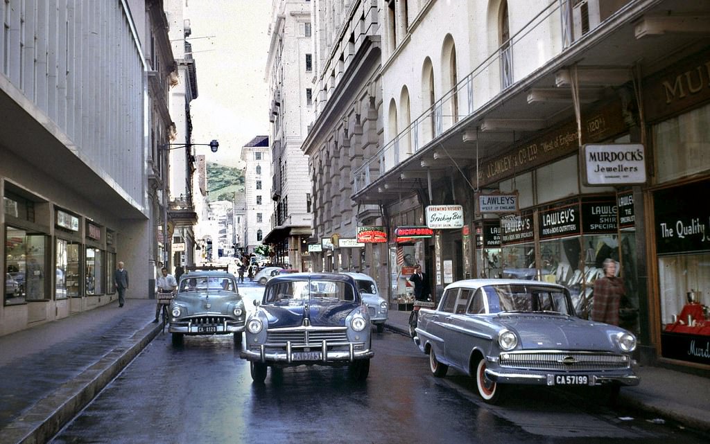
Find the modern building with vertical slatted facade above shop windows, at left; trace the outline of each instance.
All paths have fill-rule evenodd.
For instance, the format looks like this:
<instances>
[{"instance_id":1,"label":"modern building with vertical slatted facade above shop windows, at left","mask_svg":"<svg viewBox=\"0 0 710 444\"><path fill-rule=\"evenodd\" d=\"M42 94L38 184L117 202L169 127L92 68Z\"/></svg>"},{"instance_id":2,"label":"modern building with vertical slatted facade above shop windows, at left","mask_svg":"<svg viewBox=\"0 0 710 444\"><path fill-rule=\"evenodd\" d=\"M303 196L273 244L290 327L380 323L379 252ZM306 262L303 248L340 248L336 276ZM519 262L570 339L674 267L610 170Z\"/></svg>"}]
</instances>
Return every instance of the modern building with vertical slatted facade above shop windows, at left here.
<instances>
[{"instance_id":1,"label":"modern building with vertical slatted facade above shop windows, at left","mask_svg":"<svg viewBox=\"0 0 710 444\"><path fill-rule=\"evenodd\" d=\"M0 334L115 301L119 261L127 296L148 297L173 71L162 6L0 2Z\"/></svg>"}]
</instances>

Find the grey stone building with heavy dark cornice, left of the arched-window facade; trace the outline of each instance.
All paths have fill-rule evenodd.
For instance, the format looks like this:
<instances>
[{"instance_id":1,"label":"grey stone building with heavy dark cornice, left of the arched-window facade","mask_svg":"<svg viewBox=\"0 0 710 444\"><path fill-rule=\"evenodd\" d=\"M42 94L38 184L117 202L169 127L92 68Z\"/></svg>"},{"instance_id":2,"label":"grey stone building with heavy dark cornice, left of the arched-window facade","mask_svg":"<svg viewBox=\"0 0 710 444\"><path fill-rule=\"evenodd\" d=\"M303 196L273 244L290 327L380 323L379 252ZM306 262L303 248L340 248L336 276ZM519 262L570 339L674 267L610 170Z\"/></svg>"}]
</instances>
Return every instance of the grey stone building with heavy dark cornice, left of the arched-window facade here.
<instances>
[{"instance_id":1,"label":"grey stone building with heavy dark cornice, left of the arched-window facade","mask_svg":"<svg viewBox=\"0 0 710 444\"><path fill-rule=\"evenodd\" d=\"M357 226L372 225L381 211L377 202L363 206L352 199L354 170L383 143L383 10L378 1L310 3L315 116L302 150L313 190L313 269L367 272L386 289L388 249L355 243Z\"/></svg>"}]
</instances>

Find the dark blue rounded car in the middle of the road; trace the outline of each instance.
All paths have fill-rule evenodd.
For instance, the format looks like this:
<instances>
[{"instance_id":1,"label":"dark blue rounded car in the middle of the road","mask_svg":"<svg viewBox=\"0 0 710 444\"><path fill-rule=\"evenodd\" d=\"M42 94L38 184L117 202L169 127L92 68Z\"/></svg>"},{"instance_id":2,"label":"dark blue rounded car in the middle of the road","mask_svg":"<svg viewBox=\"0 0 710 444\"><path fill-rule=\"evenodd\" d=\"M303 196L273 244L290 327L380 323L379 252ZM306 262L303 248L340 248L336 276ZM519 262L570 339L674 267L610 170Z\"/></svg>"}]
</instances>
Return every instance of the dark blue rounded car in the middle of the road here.
<instances>
[{"instance_id":1,"label":"dark blue rounded car in the middle of the road","mask_svg":"<svg viewBox=\"0 0 710 444\"><path fill-rule=\"evenodd\" d=\"M254 382L268 367L347 365L353 379L370 372L374 353L370 316L355 281L344 274L294 273L266 283L263 299L246 318L246 346Z\"/></svg>"}]
</instances>

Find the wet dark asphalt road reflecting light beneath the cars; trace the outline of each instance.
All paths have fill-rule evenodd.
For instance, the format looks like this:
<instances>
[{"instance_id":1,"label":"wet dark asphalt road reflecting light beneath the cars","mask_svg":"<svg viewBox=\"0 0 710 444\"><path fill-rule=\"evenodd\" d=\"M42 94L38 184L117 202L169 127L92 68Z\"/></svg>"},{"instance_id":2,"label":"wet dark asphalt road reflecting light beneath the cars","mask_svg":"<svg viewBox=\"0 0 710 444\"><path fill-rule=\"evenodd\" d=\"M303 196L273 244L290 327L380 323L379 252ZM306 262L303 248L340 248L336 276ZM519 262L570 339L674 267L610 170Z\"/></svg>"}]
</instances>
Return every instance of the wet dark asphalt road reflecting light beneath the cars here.
<instances>
[{"instance_id":1,"label":"wet dark asphalt road reflecting light beneath the cars","mask_svg":"<svg viewBox=\"0 0 710 444\"><path fill-rule=\"evenodd\" d=\"M263 287L244 285L246 300ZM158 335L51 441L60 443L706 443L672 424L614 411L586 392L516 390L488 406L463 374L432 377L410 338L374 333L370 376L296 367L266 384L230 336ZM621 417L630 416L631 420Z\"/></svg>"}]
</instances>

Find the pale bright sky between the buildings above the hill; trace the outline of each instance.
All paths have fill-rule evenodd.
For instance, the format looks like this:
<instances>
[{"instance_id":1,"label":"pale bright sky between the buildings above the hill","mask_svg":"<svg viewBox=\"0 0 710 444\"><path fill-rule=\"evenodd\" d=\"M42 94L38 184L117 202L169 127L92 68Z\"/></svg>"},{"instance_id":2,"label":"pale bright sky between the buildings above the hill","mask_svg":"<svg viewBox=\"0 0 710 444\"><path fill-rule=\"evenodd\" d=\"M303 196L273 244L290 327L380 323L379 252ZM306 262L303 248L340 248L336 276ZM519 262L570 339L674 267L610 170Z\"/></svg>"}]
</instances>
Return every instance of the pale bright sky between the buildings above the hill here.
<instances>
[{"instance_id":1,"label":"pale bright sky between the buildings above the hill","mask_svg":"<svg viewBox=\"0 0 710 444\"><path fill-rule=\"evenodd\" d=\"M241 167L241 147L268 135L270 16L271 0L187 0L198 94L191 102L192 139L219 141L216 154L195 147L207 162Z\"/></svg>"}]
</instances>

